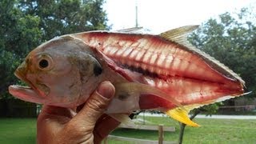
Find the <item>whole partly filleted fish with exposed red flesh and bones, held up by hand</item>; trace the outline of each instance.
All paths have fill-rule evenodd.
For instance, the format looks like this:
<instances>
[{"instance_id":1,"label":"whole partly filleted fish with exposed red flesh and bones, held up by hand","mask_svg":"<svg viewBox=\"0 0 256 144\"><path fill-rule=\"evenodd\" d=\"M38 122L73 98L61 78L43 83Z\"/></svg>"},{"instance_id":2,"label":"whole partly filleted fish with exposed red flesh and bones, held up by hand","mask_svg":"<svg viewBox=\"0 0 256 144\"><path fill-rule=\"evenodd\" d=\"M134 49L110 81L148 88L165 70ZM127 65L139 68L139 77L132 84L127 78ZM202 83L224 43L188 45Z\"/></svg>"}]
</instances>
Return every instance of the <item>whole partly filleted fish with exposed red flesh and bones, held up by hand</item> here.
<instances>
[{"instance_id":1,"label":"whole partly filleted fish with exposed red flesh and bones, held up by hand","mask_svg":"<svg viewBox=\"0 0 256 144\"><path fill-rule=\"evenodd\" d=\"M198 26L162 34L94 30L42 43L15 71L28 86L9 86L27 102L76 107L104 81L116 92L106 110L119 121L134 110L159 110L188 126L190 110L244 93L245 82L187 35Z\"/></svg>"}]
</instances>

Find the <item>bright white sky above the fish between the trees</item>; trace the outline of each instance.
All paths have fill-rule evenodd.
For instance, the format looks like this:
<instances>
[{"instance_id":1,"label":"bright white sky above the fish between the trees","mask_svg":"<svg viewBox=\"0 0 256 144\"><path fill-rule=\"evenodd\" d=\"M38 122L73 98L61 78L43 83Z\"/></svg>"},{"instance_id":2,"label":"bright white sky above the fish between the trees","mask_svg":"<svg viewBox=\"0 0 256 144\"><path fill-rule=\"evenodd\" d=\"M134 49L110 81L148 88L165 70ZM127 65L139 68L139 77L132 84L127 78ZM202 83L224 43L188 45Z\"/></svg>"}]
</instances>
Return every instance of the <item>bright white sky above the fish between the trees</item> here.
<instances>
[{"instance_id":1,"label":"bright white sky above the fish between the trees","mask_svg":"<svg viewBox=\"0 0 256 144\"><path fill-rule=\"evenodd\" d=\"M160 34L186 25L201 25L225 12L256 6L256 0L106 0L103 9L112 30L135 26L138 6L138 26Z\"/></svg>"}]
</instances>

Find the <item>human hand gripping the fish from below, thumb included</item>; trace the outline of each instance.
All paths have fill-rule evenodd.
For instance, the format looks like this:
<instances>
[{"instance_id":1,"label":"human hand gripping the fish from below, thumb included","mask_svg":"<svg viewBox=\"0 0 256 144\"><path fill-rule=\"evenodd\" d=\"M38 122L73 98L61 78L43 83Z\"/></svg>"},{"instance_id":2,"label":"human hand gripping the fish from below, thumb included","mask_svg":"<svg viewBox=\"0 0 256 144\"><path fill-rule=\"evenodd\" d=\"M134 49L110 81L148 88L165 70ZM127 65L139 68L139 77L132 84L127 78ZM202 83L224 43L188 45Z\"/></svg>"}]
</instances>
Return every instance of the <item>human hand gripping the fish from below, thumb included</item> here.
<instances>
[{"instance_id":1,"label":"human hand gripping the fish from below, thumb included","mask_svg":"<svg viewBox=\"0 0 256 144\"><path fill-rule=\"evenodd\" d=\"M102 82L78 113L62 107L43 106L38 116L38 144L102 142L120 124L103 114L114 91L110 82Z\"/></svg>"}]
</instances>

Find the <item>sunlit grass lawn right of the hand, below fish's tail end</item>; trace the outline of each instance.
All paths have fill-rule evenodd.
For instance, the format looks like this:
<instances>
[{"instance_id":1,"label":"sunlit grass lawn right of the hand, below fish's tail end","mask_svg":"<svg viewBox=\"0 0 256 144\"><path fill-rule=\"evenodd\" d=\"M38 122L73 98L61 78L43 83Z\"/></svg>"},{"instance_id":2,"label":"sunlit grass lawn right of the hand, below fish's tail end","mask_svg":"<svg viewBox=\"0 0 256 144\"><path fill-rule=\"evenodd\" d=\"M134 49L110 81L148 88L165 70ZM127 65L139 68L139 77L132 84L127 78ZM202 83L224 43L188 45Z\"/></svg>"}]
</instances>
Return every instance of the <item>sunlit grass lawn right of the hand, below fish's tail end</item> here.
<instances>
[{"instance_id":1,"label":"sunlit grass lawn right of the hand, below fish's tail end","mask_svg":"<svg viewBox=\"0 0 256 144\"><path fill-rule=\"evenodd\" d=\"M146 117L155 124L176 127L175 132L166 132L165 141L178 142L179 125L170 118ZM183 143L256 143L256 120L205 119L195 118L201 127L186 126ZM131 138L158 140L158 131L124 130L113 132L114 135Z\"/></svg>"}]
</instances>

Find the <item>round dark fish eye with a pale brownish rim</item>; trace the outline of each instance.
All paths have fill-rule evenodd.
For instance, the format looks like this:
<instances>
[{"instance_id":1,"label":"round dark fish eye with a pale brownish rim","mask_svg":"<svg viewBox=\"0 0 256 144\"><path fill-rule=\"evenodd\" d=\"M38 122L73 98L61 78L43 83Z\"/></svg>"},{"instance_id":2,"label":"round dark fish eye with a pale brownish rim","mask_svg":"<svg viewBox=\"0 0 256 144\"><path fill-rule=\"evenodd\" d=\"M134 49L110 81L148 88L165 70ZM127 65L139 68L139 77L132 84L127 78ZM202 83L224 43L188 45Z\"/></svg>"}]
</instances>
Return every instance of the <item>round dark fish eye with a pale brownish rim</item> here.
<instances>
[{"instance_id":1,"label":"round dark fish eye with a pale brownish rim","mask_svg":"<svg viewBox=\"0 0 256 144\"><path fill-rule=\"evenodd\" d=\"M49 55L42 54L38 58L38 69L50 70L53 67L53 59Z\"/></svg>"}]
</instances>

